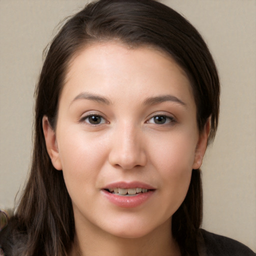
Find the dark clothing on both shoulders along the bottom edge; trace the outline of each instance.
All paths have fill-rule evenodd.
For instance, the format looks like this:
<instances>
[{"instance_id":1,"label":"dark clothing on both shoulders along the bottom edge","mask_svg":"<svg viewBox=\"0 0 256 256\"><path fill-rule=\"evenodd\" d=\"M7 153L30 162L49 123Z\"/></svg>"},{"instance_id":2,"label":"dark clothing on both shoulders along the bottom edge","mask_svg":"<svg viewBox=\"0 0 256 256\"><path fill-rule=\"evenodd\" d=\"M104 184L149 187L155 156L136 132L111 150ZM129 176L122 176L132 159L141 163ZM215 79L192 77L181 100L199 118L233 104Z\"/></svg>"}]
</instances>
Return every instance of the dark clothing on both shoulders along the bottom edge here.
<instances>
[{"instance_id":1,"label":"dark clothing on both shoulders along the bottom edge","mask_svg":"<svg viewBox=\"0 0 256 256\"><path fill-rule=\"evenodd\" d=\"M0 248L5 256L20 256L26 248L27 234L25 228L18 227L15 218L0 231ZM244 244L231 238L200 229L198 237L199 256L255 256L256 254ZM161 256L161 255L159 255ZM194 255L190 255L194 256Z\"/></svg>"}]
</instances>

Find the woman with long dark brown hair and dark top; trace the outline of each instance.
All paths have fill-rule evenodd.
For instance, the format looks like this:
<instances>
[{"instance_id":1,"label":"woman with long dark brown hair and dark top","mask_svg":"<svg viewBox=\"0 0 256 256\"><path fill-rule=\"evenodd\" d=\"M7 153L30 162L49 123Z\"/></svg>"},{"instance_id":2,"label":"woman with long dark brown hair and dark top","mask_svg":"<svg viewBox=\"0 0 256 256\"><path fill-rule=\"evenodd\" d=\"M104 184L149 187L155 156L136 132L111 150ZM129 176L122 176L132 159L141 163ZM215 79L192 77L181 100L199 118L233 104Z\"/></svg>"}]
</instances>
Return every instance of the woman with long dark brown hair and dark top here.
<instances>
[{"instance_id":1,"label":"woman with long dark brown hair and dark top","mask_svg":"<svg viewBox=\"0 0 256 256\"><path fill-rule=\"evenodd\" d=\"M100 0L53 39L30 177L5 255L252 255L199 229L219 80L195 28L153 0ZM224 254L223 254L224 255Z\"/></svg>"}]
</instances>

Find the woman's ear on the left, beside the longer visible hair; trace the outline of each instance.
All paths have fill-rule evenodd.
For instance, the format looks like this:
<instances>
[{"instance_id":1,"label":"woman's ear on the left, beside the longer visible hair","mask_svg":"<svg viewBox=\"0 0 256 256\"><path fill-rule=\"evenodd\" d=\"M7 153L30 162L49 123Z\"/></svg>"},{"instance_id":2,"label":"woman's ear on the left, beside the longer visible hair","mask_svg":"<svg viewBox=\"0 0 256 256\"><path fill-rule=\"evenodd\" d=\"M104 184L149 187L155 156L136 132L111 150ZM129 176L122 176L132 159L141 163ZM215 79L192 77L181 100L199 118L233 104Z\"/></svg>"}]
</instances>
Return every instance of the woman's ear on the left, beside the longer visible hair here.
<instances>
[{"instance_id":1,"label":"woman's ear on the left, beside the longer visible hair","mask_svg":"<svg viewBox=\"0 0 256 256\"><path fill-rule=\"evenodd\" d=\"M55 169L61 170L62 164L59 158L56 135L54 130L51 128L49 124L48 117L45 115L42 117L42 129L43 129L47 152L51 159L52 165L54 166Z\"/></svg>"}]
</instances>

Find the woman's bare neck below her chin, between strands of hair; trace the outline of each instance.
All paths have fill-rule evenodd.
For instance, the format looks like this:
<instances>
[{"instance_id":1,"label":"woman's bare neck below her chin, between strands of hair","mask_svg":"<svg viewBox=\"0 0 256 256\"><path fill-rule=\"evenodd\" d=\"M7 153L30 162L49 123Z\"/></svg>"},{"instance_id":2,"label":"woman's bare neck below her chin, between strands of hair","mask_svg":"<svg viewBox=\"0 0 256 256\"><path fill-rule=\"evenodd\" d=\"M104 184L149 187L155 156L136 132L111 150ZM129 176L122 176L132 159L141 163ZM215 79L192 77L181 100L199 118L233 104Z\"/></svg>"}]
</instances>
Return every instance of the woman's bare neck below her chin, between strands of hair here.
<instances>
[{"instance_id":1,"label":"woman's bare neck below her chin, between strands of hair","mask_svg":"<svg viewBox=\"0 0 256 256\"><path fill-rule=\"evenodd\" d=\"M75 239L70 256L180 256L180 250L171 234L169 219L150 233L138 238L123 238L101 229L83 229L75 226ZM79 227L79 228L78 228Z\"/></svg>"}]
</instances>

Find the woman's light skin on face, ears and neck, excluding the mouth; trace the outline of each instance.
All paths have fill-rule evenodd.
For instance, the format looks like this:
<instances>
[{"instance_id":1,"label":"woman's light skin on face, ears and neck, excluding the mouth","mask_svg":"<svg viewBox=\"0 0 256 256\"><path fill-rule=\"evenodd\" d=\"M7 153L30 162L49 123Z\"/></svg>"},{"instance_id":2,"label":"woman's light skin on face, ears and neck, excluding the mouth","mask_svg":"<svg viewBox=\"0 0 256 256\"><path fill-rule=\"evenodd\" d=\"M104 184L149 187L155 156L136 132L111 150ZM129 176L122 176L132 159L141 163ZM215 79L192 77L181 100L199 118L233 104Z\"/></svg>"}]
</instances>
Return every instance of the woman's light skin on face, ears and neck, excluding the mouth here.
<instances>
[{"instance_id":1,"label":"woman's light skin on face, ears and neck, excluding the mouth","mask_svg":"<svg viewBox=\"0 0 256 256\"><path fill-rule=\"evenodd\" d=\"M91 124L89 114L99 123ZM207 123L199 134L189 80L163 52L116 42L79 52L67 71L56 129L44 116L43 131L72 200L81 254L180 255L171 216L202 163L208 130ZM155 190L141 205L122 208L101 193L117 181Z\"/></svg>"}]
</instances>

